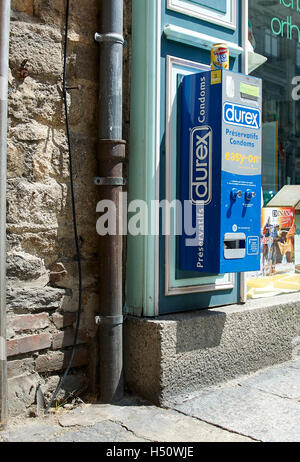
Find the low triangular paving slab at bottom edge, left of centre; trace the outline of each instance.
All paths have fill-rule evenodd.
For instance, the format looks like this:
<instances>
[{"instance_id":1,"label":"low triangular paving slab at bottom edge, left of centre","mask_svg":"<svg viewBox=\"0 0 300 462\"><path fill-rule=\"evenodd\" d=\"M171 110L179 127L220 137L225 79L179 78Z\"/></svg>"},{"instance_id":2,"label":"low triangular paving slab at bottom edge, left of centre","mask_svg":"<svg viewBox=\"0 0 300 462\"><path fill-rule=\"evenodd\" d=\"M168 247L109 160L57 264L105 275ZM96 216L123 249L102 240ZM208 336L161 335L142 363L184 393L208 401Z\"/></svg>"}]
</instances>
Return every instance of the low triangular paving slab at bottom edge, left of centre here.
<instances>
[{"instance_id":1,"label":"low triangular paving slab at bottom edge, left of centre","mask_svg":"<svg viewBox=\"0 0 300 462\"><path fill-rule=\"evenodd\" d=\"M77 431L69 431L63 435L52 438L51 442L101 442L101 443L123 443L123 442L145 442L121 425L115 422L101 422L93 427L81 428Z\"/></svg>"}]
</instances>

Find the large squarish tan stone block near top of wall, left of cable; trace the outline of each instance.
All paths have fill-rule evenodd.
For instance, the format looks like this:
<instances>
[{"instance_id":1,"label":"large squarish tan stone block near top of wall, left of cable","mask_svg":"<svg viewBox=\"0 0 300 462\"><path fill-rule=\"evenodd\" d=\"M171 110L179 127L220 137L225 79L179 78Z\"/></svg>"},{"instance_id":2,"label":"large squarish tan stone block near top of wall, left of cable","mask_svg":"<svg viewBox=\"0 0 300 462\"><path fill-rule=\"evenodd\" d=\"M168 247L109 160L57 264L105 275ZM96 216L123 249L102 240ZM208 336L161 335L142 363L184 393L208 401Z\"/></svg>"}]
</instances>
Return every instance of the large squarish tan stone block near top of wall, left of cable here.
<instances>
[{"instance_id":1,"label":"large squarish tan stone block near top of wall, left of cable","mask_svg":"<svg viewBox=\"0 0 300 462\"><path fill-rule=\"evenodd\" d=\"M18 73L21 63L31 77L59 80L62 74L62 37L59 29L36 23L11 23L10 67Z\"/></svg>"}]
</instances>

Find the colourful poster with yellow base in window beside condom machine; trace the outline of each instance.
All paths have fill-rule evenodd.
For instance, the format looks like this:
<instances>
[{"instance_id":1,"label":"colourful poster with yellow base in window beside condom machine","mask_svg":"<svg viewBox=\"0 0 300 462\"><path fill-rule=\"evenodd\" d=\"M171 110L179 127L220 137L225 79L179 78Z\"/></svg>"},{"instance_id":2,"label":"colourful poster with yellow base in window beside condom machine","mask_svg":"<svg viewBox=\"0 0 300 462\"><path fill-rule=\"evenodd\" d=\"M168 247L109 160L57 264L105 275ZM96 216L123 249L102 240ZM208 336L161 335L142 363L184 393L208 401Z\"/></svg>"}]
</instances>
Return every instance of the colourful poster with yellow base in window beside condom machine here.
<instances>
[{"instance_id":1,"label":"colourful poster with yellow base in window beside condom machine","mask_svg":"<svg viewBox=\"0 0 300 462\"><path fill-rule=\"evenodd\" d=\"M300 290L295 268L295 209L263 208L260 271L247 273L248 298Z\"/></svg>"}]
</instances>

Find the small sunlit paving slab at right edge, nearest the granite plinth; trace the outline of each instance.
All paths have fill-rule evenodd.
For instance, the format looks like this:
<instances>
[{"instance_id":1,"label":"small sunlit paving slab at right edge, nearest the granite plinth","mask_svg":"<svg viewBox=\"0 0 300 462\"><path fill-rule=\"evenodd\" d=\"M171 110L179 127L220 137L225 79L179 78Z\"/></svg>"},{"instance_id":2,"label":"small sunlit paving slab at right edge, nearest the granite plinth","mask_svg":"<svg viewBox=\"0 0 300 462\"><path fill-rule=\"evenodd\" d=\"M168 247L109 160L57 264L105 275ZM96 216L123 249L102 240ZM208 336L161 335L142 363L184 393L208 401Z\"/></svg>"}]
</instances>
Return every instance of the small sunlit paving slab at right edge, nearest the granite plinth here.
<instances>
[{"instance_id":1,"label":"small sunlit paving slab at right edge, nearest the granite plinth","mask_svg":"<svg viewBox=\"0 0 300 462\"><path fill-rule=\"evenodd\" d=\"M241 385L300 400L300 361L298 366L288 363L286 366L267 369L241 382Z\"/></svg>"}]
</instances>

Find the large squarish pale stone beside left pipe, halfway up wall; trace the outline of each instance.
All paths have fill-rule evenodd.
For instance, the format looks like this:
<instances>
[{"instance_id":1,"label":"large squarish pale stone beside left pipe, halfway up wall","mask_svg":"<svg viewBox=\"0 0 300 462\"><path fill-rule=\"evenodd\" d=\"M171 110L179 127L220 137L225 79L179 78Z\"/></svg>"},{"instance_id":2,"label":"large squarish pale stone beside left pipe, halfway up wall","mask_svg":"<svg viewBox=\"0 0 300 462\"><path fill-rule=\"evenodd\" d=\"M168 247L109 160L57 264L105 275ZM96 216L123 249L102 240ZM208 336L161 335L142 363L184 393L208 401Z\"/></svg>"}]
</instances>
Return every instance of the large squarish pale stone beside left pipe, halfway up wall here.
<instances>
[{"instance_id":1,"label":"large squarish pale stone beside left pipe, halfway up wall","mask_svg":"<svg viewBox=\"0 0 300 462\"><path fill-rule=\"evenodd\" d=\"M65 203L64 191L54 180L48 184L8 181L8 228L13 232L57 229L57 214Z\"/></svg>"}]
</instances>

